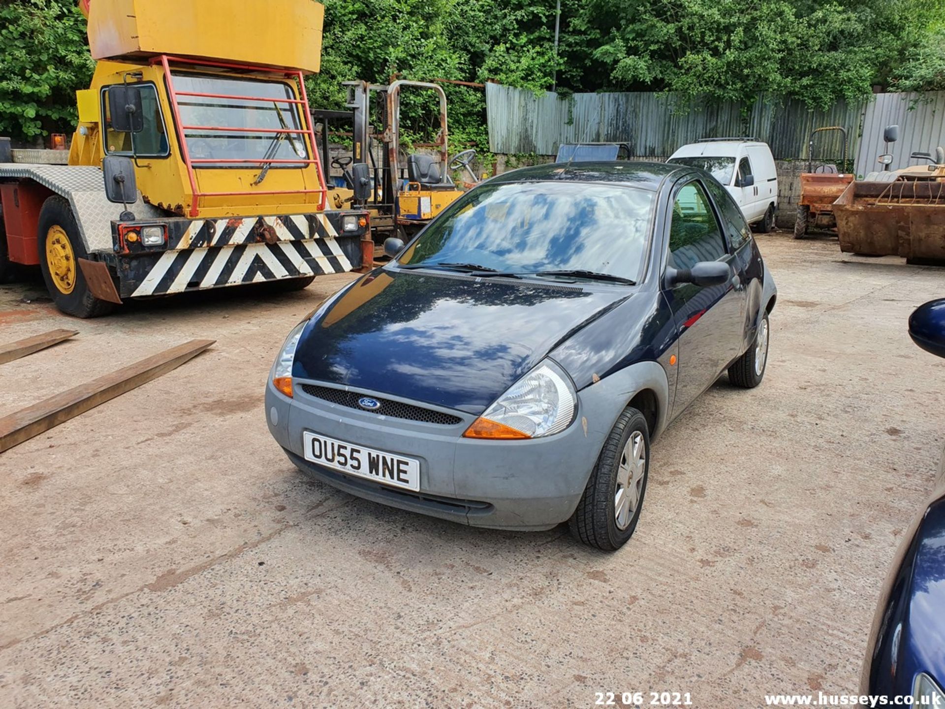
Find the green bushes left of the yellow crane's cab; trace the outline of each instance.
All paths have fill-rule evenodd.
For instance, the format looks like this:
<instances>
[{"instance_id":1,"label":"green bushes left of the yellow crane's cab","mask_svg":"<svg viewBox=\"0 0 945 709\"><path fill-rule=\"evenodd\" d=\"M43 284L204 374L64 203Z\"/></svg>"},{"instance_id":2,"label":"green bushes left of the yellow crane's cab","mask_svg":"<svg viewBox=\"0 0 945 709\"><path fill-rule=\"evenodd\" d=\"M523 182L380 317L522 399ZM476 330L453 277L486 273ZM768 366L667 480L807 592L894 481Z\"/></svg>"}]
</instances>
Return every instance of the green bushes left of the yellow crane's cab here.
<instances>
[{"instance_id":1,"label":"green bushes left of the yellow crane's cab","mask_svg":"<svg viewBox=\"0 0 945 709\"><path fill-rule=\"evenodd\" d=\"M94 70L85 18L69 0L0 4L0 135L19 140L71 130L76 90Z\"/></svg>"}]
</instances>

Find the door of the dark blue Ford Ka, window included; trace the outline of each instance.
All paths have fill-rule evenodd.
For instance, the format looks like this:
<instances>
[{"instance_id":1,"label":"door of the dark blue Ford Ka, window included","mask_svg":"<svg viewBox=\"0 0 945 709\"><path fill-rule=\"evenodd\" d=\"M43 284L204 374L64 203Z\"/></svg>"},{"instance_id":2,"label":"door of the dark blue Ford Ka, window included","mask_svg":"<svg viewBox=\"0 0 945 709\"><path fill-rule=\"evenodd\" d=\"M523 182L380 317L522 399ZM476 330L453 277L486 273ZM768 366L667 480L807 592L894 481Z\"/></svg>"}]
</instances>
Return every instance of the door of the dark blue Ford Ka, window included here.
<instances>
[{"instance_id":1,"label":"door of the dark blue Ford Ka, window included","mask_svg":"<svg viewBox=\"0 0 945 709\"><path fill-rule=\"evenodd\" d=\"M731 278L722 285L669 286L663 295L673 311L679 337L679 361L674 415L708 389L738 355L742 338L741 293L733 255L726 247L706 188L696 179L674 189L666 268L692 268L700 261L725 261Z\"/></svg>"}]
</instances>

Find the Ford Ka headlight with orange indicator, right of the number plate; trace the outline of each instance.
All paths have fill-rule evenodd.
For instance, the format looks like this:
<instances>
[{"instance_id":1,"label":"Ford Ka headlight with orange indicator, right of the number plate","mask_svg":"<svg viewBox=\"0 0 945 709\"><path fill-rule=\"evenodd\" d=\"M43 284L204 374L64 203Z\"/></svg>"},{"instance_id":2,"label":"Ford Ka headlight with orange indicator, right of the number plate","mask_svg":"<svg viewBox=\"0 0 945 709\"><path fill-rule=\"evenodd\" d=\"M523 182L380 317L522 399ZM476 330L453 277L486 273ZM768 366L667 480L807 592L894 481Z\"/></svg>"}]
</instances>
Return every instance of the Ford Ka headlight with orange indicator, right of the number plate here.
<instances>
[{"instance_id":1,"label":"Ford Ka headlight with orange indicator, right of the number plate","mask_svg":"<svg viewBox=\"0 0 945 709\"><path fill-rule=\"evenodd\" d=\"M463 434L468 439L537 439L575 419L577 395L568 375L545 360L513 384Z\"/></svg>"}]
</instances>

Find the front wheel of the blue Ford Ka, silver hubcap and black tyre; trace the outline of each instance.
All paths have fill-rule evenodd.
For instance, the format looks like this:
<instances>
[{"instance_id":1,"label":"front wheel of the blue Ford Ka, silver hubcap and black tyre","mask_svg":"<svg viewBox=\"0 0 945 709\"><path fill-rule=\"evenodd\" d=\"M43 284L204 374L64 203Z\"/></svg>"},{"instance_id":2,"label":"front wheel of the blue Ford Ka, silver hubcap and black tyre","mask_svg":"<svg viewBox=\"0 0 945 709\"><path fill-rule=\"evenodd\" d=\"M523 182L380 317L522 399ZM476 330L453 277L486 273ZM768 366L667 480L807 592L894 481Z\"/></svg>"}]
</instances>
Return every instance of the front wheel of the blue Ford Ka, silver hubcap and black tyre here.
<instances>
[{"instance_id":1,"label":"front wheel of the blue Ford Ka, silver hubcap and black tyre","mask_svg":"<svg viewBox=\"0 0 945 709\"><path fill-rule=\"evenodd\" d=\"M610 429L568 521L574 537L604 551L627 544L640 520L648 476L649 427L639 410L627 406Z\"/></svg>"}]
</instances>

